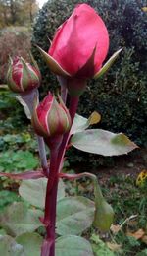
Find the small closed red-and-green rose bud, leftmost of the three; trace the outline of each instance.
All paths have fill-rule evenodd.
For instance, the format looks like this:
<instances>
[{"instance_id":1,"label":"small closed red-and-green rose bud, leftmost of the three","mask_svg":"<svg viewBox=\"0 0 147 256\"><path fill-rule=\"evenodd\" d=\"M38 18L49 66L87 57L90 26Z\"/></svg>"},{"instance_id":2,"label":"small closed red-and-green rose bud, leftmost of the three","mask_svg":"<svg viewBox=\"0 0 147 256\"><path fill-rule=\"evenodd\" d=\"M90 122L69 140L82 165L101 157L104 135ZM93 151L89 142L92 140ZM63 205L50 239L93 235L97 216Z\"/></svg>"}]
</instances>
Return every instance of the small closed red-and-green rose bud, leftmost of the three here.
<instances>
[{"instance_id":1,"label":"small closed red-and-green rose bud, leftmost of the three","mask_svg":"<svg viewBox=\"0 0 147 256\"><path fill-rule=\"evenodd\" d=\"M15 93L28 93L40 85L40 71L34 66L25 63L22 57L10 59L10 66L7 73L7 83L9 88Z\"/></svg>"}]
</instances>

